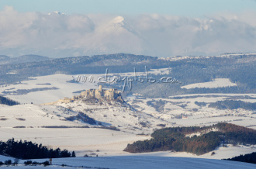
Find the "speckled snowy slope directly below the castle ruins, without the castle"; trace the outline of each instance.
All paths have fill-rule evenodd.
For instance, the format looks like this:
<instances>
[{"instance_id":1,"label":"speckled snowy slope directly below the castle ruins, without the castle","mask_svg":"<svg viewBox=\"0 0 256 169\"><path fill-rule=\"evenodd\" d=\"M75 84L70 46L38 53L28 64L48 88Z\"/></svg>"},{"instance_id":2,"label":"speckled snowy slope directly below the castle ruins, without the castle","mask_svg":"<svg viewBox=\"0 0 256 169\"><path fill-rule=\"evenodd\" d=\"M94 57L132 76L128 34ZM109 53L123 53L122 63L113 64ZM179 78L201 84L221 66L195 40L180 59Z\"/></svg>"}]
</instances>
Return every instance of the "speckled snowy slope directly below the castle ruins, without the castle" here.
<instances>
[{"instance_id":1,"label":"speckled snowy slope directly below the castle ruins, without the castle","mask_svg":"<svg viewBox=\"0 0 256 169\"><path fill-rule=\"evenodd\" d=\"M119 102L88 104L82 100L76 100L71 103L59 102L56 105L70 108L75 112L83 112L93 119L102 122L104 126L116 126L126 133L150 134L153 132L153 129L159 128L157 124L166 123L166 126L171 126L171 122L157 119L144 112L128 109L126 105Z\"/></svg>"}]
</instances>

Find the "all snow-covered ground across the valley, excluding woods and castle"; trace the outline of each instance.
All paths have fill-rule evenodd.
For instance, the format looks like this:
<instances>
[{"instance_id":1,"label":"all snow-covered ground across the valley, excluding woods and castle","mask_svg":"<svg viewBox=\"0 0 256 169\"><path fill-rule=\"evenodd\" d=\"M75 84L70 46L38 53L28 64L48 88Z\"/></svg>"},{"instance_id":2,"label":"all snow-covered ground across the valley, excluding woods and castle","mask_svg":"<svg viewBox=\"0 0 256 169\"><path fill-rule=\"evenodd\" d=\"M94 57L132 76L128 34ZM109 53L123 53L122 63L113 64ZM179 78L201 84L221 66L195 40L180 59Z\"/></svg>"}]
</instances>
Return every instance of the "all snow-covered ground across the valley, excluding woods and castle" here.
<instances>
[{"instance_id":1,"label":"all snow-covered ground across the valley, excluding woods and castle","mask_svg":"<svg viewBox=\"0 0 256 169\"><path fill-rule=\"evenodd\" d=\"M163 71L151 70L150 73L159 74ZM166 73L168 73L168 69L163 74ZM129 77L132 74L133 72L128 72L122 75ZM85 76L90 75L92 74L85 74ZM104 75L93 74L93 77L97 79ZM110 77L114 75L109 74ZM88 104L81 100L70 103L57 102L65 97L78 96L79 92L76 91L99 88L98 83L70 83L69 81L73 78L72 75L54 74L31 77L29 81L21 81L16 85L2 85L0 92L10 91L9 95L5 95L5 97L12 98L12 100L20 102L21 105L1 105L1 140L7 141L10 138L29 140L34 143L42 143L47 147L60 147L76 152L75 159L54 159L51 167L60 167L61 164L66 164L70 168L81 166L108 168L140 166L140 168L148 168L159 166L159 160L161 160L162 168L170 166L186 168L190 163L192 163L191 167L196 168L198 168L198 164L201 168L207 168L209 167L208 163L212 164L210 168L218 165L225 168L254 167L253 164L221 160L254 152L256 148L253 145L234 146L229 144L227 147L219 147L214 150L214 155L206 153L200 156L171 151L133 154L123 150L128 143L150 139L150 133L163 126L209 126L216 122L231 122L256 129L256 114L253 110L219 110L206 106L211 102L235 97L244 97L241 100L255 103L256 94L211 93L175 95L169 98L140 98L140 95L133 94L127 95L125 98L128 107L116 102L102 102L101 104L98 102ZM226 78L218 78L215 81L186 85L182 88L219 88L231 85L236 84ZM33 91L33 88L45 88L46 86L56 89ZM24 95L13 92L19 90L29 90L29 92ZM156 106L157 102L161 102L160 107ZM205 102L206 105L196 105L195 102ZM76 116L78 112L86 113L96 122L101 122L103 126L115 126L117 129L102 129L99 125L88 124L78 119L67 120ZM85 158L85 154L92 157ZM2 161L9 159L9 157L3 156L1 158ZM22 161L19 161L17 167L24 167ZM131 165L130 161L133 161ZM29 168L29 166L26 167Z\"/></svg>"}]
</instances>

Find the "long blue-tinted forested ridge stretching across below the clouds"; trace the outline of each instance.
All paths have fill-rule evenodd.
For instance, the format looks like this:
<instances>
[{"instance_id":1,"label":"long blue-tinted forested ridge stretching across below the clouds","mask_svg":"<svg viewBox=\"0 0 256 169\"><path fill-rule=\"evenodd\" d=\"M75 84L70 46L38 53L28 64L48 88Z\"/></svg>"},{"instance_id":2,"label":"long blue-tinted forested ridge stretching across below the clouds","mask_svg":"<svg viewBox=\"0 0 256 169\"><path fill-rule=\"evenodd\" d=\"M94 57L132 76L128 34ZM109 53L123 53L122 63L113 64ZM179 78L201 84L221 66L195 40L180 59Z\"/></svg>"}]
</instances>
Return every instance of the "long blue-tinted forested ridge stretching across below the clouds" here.
<instances>
[{"instance_id":1,"label":"long blue-tinted forested ridge stretching across below the clouds","mask_svg":"<svg viewBox=\"0 0 256 169\"><path fill-rule=\"evenodd\" d=\"M22 57L29 60L32 56ZM8 57L2 56L2 59ZM36 58L36 57L35 57ZM40 57L42 59L42 57ZM44 58L46 59L46 58ZM35 59L36 60L36 59ZM37 59L40 60L40 59ZM33 61L33 59L30 59ZM195 93L254 93L255 56L232 55L230 57L184 57L182 60L164 60L158 57L134 55L130 53L114 53L95 55L92 57L65 57L59 59L26 62L21 64L0 65L0 85L13 84L27 80L29 77L50 74L119 74L126 72L150 72L151 69L168 68L163 74L150 74L154 79L171 77L178 79L182 85L213 81L215 78L228 78L236 86L223 88L180 88L180 84L172 83L137 83L133 92L147 98L168 97L170 95ZM112 86L120 89L119 85ZM106 87L106 86L104 86ZM149 92L150 91L150 92Z\"/></svg>"}]
</instances>

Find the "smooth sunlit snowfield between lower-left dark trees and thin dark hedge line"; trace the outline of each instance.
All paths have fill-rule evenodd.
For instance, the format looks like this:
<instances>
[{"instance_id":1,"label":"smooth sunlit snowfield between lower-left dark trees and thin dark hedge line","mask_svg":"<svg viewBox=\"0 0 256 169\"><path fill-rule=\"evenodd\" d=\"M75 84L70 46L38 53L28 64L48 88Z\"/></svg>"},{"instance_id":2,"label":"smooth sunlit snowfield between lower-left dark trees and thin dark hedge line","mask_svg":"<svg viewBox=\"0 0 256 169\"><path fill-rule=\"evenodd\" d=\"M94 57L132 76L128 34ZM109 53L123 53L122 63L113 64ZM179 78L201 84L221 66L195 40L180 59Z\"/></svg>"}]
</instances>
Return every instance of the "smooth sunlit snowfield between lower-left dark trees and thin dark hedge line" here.
<instances>
[{"instance_id":1,"label":"smooth sunlit snowfield between lower-left dark trees and thin dark hedge line","mask_svg":"<svg viewBox=\"0 0 256 169\"><path fill-rule=\"evenodd\" d=\"M99 156L126 153L123 150L128 143L137 140L146 140L149 136L136 136L134 134L112 131L109 129L44 129L1 128L1 140L6 141L12 137L15 140L28 140L33 143L42 143L44 146L62 150L74 150L78 156L97 153Z\"/></svg>"}]
</instances>

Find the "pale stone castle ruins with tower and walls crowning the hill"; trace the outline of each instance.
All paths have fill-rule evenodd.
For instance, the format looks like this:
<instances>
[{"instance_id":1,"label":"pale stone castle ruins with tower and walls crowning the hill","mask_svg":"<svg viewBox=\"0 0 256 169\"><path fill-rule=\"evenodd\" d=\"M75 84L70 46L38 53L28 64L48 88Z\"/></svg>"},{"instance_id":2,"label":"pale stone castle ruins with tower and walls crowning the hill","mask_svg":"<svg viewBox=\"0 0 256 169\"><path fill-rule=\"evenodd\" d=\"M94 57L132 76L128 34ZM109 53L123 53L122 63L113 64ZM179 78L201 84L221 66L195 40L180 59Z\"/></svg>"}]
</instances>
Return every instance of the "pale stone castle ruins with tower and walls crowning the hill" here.
<instances>
[{"instance_id":1,"label":"pale stone castle ruins with tower and walls crowning the hill","mask_svg":"<svg viewBox=\"0 0 256 169\"><path fill-rule=\"evenodd\" d=\"M74 102L74 100L77 99L83 99L83 98L96 98L99 100L99 102L102 101L118 101L118 102L124 102L122 95L121 95L121 91L117 91L117 89L102 89L102 85L99 85L99 89L89 89L86 91L81 91L81 95L78 96L73 96L72 98L64 98L64 99L60 99L57 102L64 102L64 103L69 103L69 102ZM54 103L49 103L49 104L55 104L57 102Z\"/></svg>"}]
</instances>

